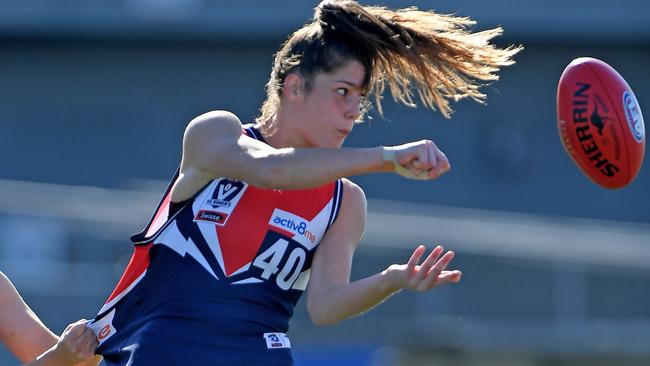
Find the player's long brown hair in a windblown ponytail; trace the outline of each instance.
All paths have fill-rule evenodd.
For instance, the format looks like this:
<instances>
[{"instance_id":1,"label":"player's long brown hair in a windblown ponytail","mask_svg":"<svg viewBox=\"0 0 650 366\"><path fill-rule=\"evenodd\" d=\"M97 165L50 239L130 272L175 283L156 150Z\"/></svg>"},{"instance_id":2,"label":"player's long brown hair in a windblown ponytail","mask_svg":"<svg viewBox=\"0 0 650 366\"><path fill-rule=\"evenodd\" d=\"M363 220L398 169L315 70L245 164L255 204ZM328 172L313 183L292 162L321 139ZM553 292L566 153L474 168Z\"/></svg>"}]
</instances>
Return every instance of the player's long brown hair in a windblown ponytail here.
<instances>
[{"instance_id":1,"label":"player's long brown hair in a windblown ponytail","mask_svg":"<svg viewBox=\"0 0 650 366\"><path fill-rule=\"evenodd\" d=\"M299 72L308 90L317 73L334 71L350 59L364 65L364 89L380 115L388 86L396 101L415 106L415 90L424 105L450 117L450 100L483 102L486 95L479 88L497 80L499 68L512 65L512 57L522 49L496 47L490 40L503 30L472 33L474 24L466 17L415 7L390 10L353 0L325 0L313 20L276 53L257 121L268 124L277 113L287 75Z\"/></svg>"}]
</instances>

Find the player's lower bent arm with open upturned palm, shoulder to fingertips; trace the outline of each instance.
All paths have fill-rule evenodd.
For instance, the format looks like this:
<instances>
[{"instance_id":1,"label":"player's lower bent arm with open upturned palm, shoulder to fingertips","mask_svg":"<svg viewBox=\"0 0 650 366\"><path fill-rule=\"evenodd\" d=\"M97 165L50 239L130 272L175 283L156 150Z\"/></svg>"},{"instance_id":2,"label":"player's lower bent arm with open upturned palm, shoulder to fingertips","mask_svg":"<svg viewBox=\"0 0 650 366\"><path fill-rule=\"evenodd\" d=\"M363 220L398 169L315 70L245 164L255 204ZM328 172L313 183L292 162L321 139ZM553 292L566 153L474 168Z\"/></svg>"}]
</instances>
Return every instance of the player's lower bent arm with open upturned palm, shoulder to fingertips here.
<instances>
[{"instance_id":1,"label":"player's lower bent arm with open upturned palm, shoulder to fingertips","mask_svg":"<svg viewBox=\"0 0 650 366\"><path fill-rule=\"evenodd\" d=\"M315 324L333 324L361 314L401 289L428 291L460 281L461 272L447 271L454 253L434 248L421 263L426 248L417 247L406 264L394 264L373 276L350 282L352 257L366 219L361 188L345 181L339 217L314 255L307 286L307 309Z\"/></svg>"}]
</instances>

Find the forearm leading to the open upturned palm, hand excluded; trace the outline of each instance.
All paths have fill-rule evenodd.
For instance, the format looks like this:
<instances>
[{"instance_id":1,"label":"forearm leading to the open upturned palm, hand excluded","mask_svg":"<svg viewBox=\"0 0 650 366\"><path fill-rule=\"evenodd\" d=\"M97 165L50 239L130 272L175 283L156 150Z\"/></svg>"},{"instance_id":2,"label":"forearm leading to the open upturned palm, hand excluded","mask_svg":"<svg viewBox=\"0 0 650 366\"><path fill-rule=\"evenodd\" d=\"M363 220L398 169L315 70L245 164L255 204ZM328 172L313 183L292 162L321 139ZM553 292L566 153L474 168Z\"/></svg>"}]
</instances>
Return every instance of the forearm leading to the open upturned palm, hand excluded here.
<instances>
[{"instance_id":1,"label":"forearm leading to the open upturned palm, hand excluded","mask_svg":"<svg viewBox=\"0 0 650 366\"><path fill-rule=\"evenodd\" d=\"M315 324L327 325L362 314L399 291L388 271L345 285L332 287L308 299Z\"/></svg>"}]
</instances>

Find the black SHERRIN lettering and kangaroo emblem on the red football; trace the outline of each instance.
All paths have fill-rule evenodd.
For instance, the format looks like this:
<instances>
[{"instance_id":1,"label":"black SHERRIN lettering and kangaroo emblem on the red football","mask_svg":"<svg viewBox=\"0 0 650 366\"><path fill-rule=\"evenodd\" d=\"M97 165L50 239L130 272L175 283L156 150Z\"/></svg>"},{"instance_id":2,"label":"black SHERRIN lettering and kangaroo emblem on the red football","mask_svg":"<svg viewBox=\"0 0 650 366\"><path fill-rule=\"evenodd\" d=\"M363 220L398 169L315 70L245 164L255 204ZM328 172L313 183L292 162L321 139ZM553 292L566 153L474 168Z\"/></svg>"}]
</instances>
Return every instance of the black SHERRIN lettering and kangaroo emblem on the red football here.
<instances>
[{"instance_id":1,"label":"black SHERRIN lettering and kangaroo emblem on the red football","mask_svg":"<svg viewBox=\"0 0 650 366\"><path fill-rule=\"evenodd\" d=\"M580 148L589 161L603 175L613 177L620 168L605 157L594 139L592 125L596 127L597 133L602 134L606 117L600 115L596 101L593 112L589 113L590 89L591 84L576 83L576 91L573 93L573 126Z\"/></svg>"}]
</instances>

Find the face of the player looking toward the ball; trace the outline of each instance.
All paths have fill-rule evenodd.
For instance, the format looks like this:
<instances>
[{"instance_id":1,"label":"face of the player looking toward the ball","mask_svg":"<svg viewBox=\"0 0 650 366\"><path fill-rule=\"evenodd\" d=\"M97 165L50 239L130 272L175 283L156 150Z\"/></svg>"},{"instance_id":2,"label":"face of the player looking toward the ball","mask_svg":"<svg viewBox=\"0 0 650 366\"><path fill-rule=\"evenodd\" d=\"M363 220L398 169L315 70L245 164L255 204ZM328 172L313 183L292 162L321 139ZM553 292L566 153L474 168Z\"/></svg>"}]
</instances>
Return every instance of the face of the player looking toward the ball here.
<instances>
[{"instance_id":1,"label":"face of the player looking toward the ball","mask_svg":"<svg viewBox=\"0 0 650 366\"><path fill-rule=\"evenodd\" d=\"M361 114L363 65L350 60L331 73L317 74L297 112L306 146L341 147Z\"/></svg>"}]
</instances>

